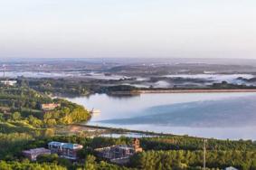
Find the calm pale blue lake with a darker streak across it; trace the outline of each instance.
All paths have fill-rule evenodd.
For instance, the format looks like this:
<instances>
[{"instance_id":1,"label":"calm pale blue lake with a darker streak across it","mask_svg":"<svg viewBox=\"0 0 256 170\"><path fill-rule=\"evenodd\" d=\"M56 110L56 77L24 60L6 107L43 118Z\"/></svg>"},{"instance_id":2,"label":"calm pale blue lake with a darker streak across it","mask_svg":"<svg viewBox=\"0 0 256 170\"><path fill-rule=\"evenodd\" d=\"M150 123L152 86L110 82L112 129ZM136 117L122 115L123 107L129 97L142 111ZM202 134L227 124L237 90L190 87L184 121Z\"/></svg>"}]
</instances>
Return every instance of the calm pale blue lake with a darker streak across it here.
<instances>
[{"instance_id":1,"label":"calm pale blue lake with a darker streak across it","mask_svg":"<svg viewBox=\"0 0 256 170\"><path fill-rule=\"evenodd\" d=\"M256 139L256 93L95 94L69 99L100 109L89 125L214 137Z\"/></svg>"}]
</instances>

